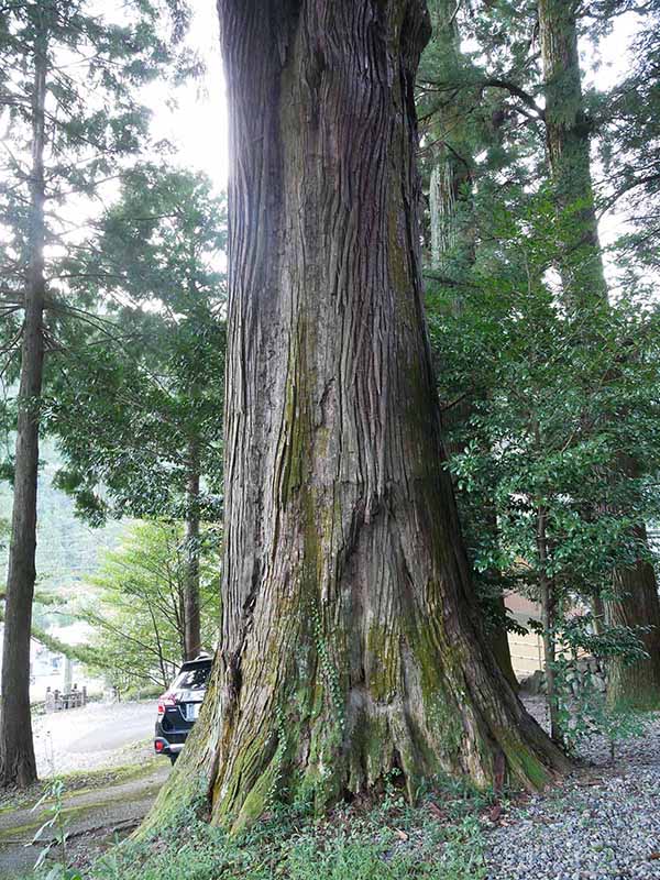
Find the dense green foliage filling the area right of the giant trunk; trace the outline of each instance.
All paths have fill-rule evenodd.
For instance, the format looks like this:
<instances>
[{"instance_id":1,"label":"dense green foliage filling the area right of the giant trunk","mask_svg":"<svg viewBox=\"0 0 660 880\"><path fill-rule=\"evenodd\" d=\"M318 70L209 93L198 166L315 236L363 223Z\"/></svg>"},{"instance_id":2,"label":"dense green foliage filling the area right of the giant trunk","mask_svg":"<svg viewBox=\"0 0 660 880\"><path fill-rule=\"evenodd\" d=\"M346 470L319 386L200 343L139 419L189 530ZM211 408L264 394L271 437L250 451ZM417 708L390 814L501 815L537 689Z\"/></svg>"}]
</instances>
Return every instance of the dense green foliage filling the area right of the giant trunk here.
<instances>
[{"instance_id":1,"label":"dense green foliage filling the area right of the giant trunk","mask_svg":"<svg viewBox=\"0 0 660 880\"><path fill-rule=\"evenodd\" d=\"M575 32L593 45L630 8L548 0L538 10L494 2L466 14L437 0L439 26L420 76L422 155L470 163L468 183L454 188L453 238L441 265L431 258L427 268L463 526L482 598L503 587L551 597L558 617L542 631L552 654L576 603L614 601L613 572L654 563L646 524L658 517L660 337L648 272L656 249L642 220L610 250L620 283L608 300L593 212L594 198L606 207L626 193L637 194L626 205L632 223L639 205L640 217L654 210L653 4L645 6L636 66L612 96L583 94L571 54ZM442 36L449 20L476 46L466 53L461 44L457 63L454 37L453 68ZM548 30L551 73L539 54ZM595 190L590 138L613 182ZM429 190L432 218L432 177ZM624 600L631 606L635 588ZM602 614L592 625L605 626ZM630 630L637 649L622 631L623 663L645 657L644 630Z\"/></svg>"}]
</instances>

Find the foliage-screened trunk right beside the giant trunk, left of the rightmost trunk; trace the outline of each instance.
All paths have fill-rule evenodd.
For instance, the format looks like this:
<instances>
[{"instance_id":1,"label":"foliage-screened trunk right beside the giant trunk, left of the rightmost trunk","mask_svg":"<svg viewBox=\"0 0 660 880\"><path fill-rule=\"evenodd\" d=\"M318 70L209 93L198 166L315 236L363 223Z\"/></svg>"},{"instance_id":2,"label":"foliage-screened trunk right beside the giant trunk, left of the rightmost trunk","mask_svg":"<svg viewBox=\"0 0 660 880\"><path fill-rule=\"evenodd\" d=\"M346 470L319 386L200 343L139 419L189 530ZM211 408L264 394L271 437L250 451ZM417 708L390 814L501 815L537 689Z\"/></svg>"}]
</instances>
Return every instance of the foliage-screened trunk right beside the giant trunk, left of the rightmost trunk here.
<instances>
[{"instance_id":1,"label":"foliage-screened trunk right beside the giant trunk, left of the rightmost trunk","mask_svg":"<svg viewBox=\"0 0 660 880\"><path fill-rule=\"evenodd\" d=\"M435 0L432 4L433 40L438 44L441 69L440 81L448 87L460 81L465 68L461 54L461 38L457 22L455 0ZM466 131L466 107L458 100L455 91L448 88L448 96L435 113L433 138L437 140L436 164L429 185L429 210L431 226L431 261L439 270L447 268L448 254L468 265L476 258L475 224L472 220L472 146ZM461 297L457 295L453 308L461 310ZM446 428L468 424L474 411L474 400L465 398L443 416ZM450 455L461 452L464 444L455 449L448 444ZM495 519L495 517L493 517ZM494 534L497 524L492 524ZM488 641L495 659L509 684L517 689L518 681L512 664L508 634L505 620L504 597L496 603L499 612L487 630Z\"/></svg>"}]
</instances>

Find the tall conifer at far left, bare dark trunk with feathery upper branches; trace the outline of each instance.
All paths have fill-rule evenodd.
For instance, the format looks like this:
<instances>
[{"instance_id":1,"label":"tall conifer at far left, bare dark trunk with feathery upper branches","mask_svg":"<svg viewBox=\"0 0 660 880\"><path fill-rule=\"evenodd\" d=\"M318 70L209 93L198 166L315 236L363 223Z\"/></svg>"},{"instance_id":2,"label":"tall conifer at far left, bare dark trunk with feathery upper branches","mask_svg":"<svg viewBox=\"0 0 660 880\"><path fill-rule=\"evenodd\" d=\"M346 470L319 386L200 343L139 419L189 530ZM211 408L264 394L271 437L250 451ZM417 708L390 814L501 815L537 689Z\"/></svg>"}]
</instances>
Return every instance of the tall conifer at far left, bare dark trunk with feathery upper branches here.
<instances>
[{"instance_id":1,"label":"tall conifer at far left, bare dark trunk with feathery upper branches","mask_svg":"<svg viewBox=\"0 0 660 880\"><path fill-rule=\"evenodd\" d=\"M72 0L11 3L0 26L0 98L13 141L1 188L2 221L10 230L2 254L3 305L12 312L23 310L16 337L7 345L11 353L12 343L22 340L0 696L3 785L26 785L36 778L30 634L40 398L48 338L44 314L57 308L45 257L47 244L64 241L51 215L67 198L94 190L119 156L136 148L145 117L134 89L173 61L158 36L160 4L124 4L121 25L99 16L92 6ZM185 10L178 0L167 6L180 35ZM28 165L25 154L31 156Z\"/></svg>"}]
</instances>

